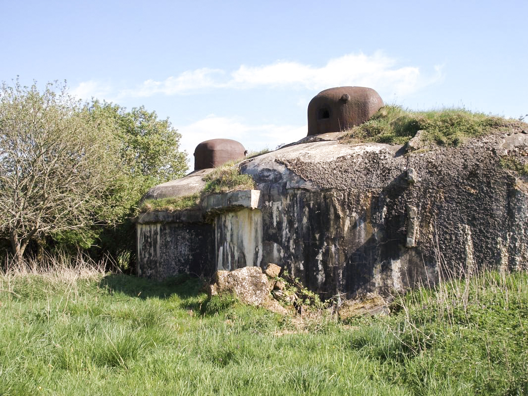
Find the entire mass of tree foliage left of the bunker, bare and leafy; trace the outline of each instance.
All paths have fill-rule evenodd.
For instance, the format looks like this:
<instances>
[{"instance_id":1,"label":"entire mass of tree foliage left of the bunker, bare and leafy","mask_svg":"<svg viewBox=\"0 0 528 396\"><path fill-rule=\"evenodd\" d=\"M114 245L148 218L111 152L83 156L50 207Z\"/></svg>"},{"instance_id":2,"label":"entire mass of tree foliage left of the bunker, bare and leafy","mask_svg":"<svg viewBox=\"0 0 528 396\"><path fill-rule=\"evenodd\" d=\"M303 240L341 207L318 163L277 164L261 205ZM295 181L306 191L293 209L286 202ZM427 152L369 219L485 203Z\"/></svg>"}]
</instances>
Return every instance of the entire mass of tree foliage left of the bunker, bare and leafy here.
<instances>
[{"instance_id":1,"label":"entire mass of tree foliage left of the bunker, bare and leafy","mask_svg":"<svg viewBox=\"0 0 528 396\"><path fill-rule=\"evenodd\" d=\"M18 260L36 239L102 249L129 241L123 230L147 188L187 169L180 137L143 107L81 103L56 82L42 92L3 83L0 236Z\"/></svg>"}]
</instances>

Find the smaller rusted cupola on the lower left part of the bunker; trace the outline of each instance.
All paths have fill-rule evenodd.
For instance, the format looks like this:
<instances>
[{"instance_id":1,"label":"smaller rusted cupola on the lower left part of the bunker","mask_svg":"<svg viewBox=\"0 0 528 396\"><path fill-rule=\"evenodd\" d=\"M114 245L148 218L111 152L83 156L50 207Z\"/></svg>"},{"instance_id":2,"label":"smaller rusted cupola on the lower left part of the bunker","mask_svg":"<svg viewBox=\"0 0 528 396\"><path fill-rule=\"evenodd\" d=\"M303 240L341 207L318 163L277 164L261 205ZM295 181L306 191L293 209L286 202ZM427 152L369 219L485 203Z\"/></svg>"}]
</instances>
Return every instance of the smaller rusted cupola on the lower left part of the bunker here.
<instances>
[{"instance_id":1,"label":"smaller rusted cupola on the lower left part of the bunker","mask_svg":"<svg viewBox=\"0 0 528 396\"><path fill-rule=\"evenodd\" d=\"M194 170L215 168L245 155L246 149L237 140L205 140L194 149Z\"/></svg>"}]
</instances>

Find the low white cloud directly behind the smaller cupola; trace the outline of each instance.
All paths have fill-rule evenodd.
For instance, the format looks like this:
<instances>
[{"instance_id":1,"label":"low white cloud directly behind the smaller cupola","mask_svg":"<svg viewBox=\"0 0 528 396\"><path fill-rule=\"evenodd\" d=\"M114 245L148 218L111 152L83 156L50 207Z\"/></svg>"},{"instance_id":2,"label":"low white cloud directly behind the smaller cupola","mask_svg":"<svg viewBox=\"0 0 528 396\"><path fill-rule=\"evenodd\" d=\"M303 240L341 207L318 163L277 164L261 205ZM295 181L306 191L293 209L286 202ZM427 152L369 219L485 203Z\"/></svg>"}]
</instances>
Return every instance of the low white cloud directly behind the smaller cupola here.
<instances>
[{"instance_id":1,"label":"low white cloud directly behind the smaller cupola","mask_svg":"<svg viewBox=\"0 0 528 396\"><path fill-rule=\"evenodd\" d=\"M279 144L297 142L307 134L307 126L291 125L248 125L237 118L210 115L190 125L178 127L182 134L181 149L185 149L194 162L193 153L196 146L209 139L233 139L242 143L248 150L262 148L275 149Z\"/></svg>"}]
</instances>

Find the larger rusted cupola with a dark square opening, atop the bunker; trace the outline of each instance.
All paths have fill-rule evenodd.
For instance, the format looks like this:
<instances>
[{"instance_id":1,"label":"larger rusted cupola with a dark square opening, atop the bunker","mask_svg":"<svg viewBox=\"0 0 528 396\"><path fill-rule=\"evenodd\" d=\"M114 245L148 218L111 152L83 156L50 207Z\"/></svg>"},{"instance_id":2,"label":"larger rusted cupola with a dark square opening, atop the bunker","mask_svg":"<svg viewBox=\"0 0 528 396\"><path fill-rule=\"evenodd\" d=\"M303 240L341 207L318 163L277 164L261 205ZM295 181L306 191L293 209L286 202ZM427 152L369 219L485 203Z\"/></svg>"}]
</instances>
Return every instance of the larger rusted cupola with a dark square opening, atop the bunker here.
<instances>
[{"instance_id":1,"label":"larger rusted cupola with a dark square opening, atop the bunker","mask_svg":"<svg viewBox=\"0 0 528 396\"><path fill-rule=\"evenodd\" d=\"M383 100L372 88L325 89L308 104L308 136L339 132L363 124L383 106Z\"/></svg>"}]
</instances>

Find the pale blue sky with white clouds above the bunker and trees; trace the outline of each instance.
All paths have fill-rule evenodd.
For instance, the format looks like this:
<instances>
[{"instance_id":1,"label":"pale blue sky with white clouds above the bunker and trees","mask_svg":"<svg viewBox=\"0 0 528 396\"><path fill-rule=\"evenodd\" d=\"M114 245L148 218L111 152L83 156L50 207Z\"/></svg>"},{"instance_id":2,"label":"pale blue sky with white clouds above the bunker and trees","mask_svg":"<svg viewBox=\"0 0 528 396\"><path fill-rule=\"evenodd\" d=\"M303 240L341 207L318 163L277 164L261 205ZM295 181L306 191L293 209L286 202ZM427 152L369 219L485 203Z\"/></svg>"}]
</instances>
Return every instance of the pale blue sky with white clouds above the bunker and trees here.
<instances>
[{"instance_id":1,"label":"pale blue sky with white clouds above the bunker and trees","mask_svg":"<svg viewBox=\"0 0 528 396\"><path fill-rule=\"evenodd\" d=\"M169 117L203 140L275 148L319 91L365 86L411 109L528 113L528 0L0 0L0 80Z\"/></svg>"}]
</instances>

